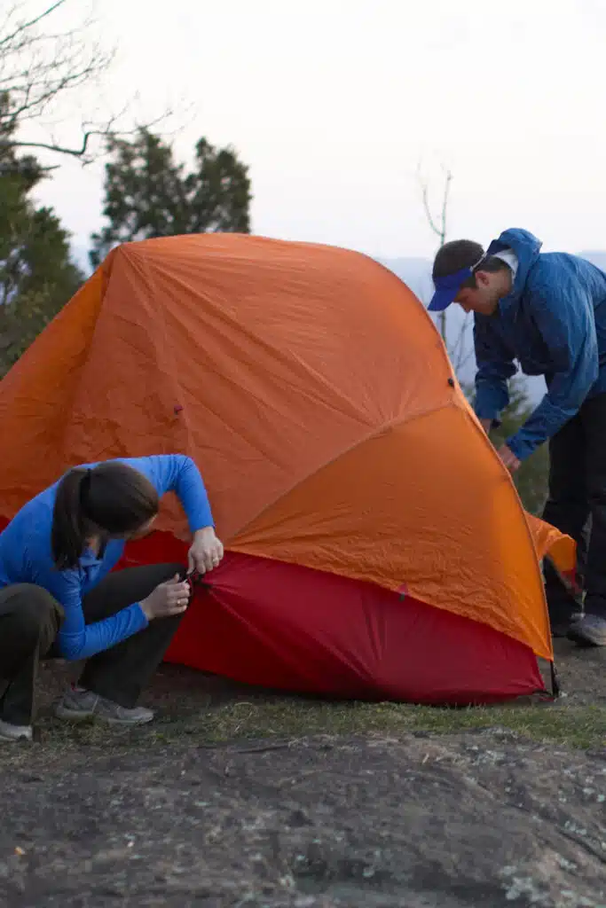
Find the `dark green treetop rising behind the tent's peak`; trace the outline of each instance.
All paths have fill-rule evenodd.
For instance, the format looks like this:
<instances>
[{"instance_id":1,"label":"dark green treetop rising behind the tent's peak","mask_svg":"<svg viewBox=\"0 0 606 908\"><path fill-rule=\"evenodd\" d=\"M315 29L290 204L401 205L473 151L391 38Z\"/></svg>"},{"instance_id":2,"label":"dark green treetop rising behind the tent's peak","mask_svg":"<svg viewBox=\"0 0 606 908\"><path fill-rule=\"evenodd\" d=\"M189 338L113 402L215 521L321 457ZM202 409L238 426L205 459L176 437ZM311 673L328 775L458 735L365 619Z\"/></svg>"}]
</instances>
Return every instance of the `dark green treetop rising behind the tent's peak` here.
<instances>
[{"instance_id":1,"label":"dark green treetop rising behind the tent's peak","mask_svg":"<svg viewBox=\"0 0 606 908\"><path fill-rule=\"evenodd\" d=\"M111 139L105 165L104 216L91 237L94 267L115 245L180 233L250 232L248 168L230 148L202 138L188 173L173 149L141 129L133 141Z\"/></svg>"}]
</instances>

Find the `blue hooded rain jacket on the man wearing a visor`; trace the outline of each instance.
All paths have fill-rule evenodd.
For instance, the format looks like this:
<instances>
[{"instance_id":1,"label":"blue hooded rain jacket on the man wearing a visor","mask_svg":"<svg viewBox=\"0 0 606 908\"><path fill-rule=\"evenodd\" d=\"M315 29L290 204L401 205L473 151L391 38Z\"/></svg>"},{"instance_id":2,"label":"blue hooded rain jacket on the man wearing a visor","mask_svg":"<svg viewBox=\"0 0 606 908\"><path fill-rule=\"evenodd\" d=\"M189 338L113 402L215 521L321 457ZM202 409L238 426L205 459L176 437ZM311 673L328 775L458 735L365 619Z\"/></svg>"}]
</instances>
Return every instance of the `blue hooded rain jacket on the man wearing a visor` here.
<instances>
[{"instance_id":1,"label":"blue hooded rain jacket on the man wearing a visor","mask_svg":"<svg viewBox=\"0 0 606 908\"><path fill-rule=\"evenodd\" d=\"M475 411L498 419L518 363L544 375L547 394L507 444L519 459L550 439L584 400L606 391L606 274L562 252L541 253L531 233L509 230L488 255L512 249L518 271L494 316L476 315Z\"/></svg>"}]
</instances>

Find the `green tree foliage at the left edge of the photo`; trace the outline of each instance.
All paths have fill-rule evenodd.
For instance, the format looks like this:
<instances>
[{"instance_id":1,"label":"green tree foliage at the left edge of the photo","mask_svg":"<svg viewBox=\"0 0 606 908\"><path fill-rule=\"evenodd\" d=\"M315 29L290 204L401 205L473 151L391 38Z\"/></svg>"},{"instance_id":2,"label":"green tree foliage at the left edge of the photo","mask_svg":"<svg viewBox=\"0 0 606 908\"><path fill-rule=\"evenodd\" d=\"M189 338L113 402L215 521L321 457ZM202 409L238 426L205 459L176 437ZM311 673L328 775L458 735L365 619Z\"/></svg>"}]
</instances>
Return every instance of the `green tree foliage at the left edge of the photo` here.
<instances>
[{"instance_id":1,"label":"green tree foliage at the left edge of the photo","mask_svg":"<svg viewBox=\"0 0 606 908\"><path fill-rule=\"evenodd\" d=\"M83 276L70 259L69 234L31 192L44 171L17 157L0 128L0 375L75 293Z\"/></svg>"}]
</instances>

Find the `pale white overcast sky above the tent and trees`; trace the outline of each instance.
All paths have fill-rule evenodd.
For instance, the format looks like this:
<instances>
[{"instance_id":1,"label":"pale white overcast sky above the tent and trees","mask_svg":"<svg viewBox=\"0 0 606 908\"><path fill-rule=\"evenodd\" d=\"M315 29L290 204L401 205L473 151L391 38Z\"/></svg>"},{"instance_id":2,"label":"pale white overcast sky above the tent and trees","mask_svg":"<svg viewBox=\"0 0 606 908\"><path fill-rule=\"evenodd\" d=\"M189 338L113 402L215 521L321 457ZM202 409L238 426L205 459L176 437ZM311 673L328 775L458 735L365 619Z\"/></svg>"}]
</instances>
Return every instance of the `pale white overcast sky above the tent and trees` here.
<instances>
[{"instance_id":1,"label":"pale white overcast sky above the tent and trees","mask_svg":"<svg viewBox=\"0 0 606 908\"><path fill-rule=\"evenodd\" d=\"M606 247L604 0L103 0L98 18L119 47L103 103L182 103L185 160L201 135L232 144L256 233L429 256L421 161L436 202L454 175L451 238ZM63 163L40 192L81 247L102 175Z\"/></svg>"}]
</instances>

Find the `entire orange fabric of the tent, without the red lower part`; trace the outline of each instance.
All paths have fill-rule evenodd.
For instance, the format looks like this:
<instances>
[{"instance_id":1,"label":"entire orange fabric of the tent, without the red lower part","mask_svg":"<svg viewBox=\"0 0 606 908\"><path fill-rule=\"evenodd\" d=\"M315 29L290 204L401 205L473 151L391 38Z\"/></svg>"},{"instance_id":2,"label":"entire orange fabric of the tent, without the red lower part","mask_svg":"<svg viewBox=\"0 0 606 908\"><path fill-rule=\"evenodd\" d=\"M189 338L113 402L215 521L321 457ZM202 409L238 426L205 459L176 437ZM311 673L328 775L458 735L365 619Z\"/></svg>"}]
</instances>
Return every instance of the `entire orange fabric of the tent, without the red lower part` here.
<instances>
[{"instance_id":1,"label":"entire orange fabric of the tent, without the red lower part","mask_svg":"<svg viewBox=\"0 0 606 908\"><path fill-rule=\"evenodd\" d=\"M511 480L421 302L363 255L125 244L0 383L0 414L0 517L70 464L183 451L228 545L407 583L551 652ZM159 528L184 534L174 502Z\"/></svg>"}]
</instances>

